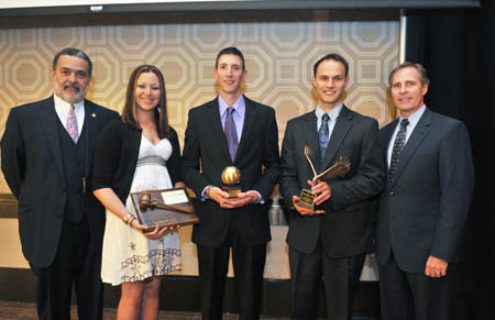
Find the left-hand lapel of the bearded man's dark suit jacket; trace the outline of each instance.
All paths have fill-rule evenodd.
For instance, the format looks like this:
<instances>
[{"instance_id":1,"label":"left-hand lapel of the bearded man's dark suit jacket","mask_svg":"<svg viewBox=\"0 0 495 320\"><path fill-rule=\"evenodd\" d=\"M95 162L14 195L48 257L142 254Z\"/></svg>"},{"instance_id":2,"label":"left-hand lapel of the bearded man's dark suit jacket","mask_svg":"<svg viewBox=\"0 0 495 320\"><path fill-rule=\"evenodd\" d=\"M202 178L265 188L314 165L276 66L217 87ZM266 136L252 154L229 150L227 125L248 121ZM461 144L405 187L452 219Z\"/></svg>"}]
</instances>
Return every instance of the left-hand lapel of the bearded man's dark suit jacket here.
<instances>
[{"instance_id":1,"label":"left-hand lapel of the bearded man's dark suit jacket","mask_svg":"<svg viewBox=\"0 0 495 320\"><path fill-rule=\"evenodd\" d=\"M61 151L61 136L58 134L58 119L55 112L55 102L53 96L46 100L43 100L40 104L40 122L45 133L46 143L50 151L53 154L55 166L57 167L61 176L64 176L64 167L62 164L62 151Z\"/></svg>"}]
</instances>

